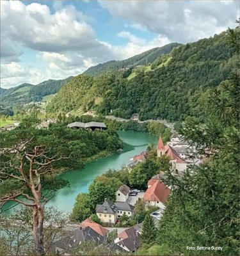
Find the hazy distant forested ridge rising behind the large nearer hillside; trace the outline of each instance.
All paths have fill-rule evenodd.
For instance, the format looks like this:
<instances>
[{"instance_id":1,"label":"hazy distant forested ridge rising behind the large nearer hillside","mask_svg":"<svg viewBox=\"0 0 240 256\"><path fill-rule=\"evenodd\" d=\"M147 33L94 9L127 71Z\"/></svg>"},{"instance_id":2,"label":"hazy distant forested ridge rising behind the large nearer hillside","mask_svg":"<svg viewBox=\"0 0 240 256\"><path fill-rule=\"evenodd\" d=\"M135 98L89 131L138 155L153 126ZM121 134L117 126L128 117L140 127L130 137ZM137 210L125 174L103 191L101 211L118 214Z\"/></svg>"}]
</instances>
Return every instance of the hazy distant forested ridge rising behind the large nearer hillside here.
<instances>
[{"instance_id":1,"label":"hazy distant forested ridge rising behind the large nearer hillside","mask_svg":"<svg viewBox=\"0 0 240 256\"><path fill-rule=\"evenodd\" d=\"M113 60L106 63L101 63L94 67L88 68L88 70L86 70L83 74L88 76L100 76L101 74L105 74L106 72L113 72L119 70L120 68L134 68L138 65L148 65L149 63L153 63L157 58L159 58L159 56L170 53L172 49L178 45L180 44L167 44L163 47L150 49L149 51L133 56L127 60Z\"/></svg>"}]
</instances>

